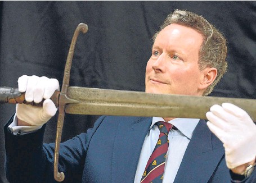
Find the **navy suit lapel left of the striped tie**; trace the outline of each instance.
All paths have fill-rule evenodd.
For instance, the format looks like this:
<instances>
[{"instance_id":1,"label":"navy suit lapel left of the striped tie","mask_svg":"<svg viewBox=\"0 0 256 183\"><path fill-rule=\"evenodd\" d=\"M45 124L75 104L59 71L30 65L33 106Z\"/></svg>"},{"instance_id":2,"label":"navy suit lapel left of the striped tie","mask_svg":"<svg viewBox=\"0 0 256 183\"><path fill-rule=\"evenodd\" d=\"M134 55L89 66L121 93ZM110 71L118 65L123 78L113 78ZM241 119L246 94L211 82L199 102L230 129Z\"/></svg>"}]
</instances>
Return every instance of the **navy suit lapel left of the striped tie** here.
<instances>
[{"instance_id":1,"label":"navy suit lapel left of the striped tie","mask_svg":"<svg viewBox=\"0 0 256 183\"><path fill-rule=\"evenodd\" d=\"M141 148L152 118L128 118L131 119L133 119L132 123L120 122L118 126L113 150L111 182L134 181Z\"/></svg>"}]
</instances>

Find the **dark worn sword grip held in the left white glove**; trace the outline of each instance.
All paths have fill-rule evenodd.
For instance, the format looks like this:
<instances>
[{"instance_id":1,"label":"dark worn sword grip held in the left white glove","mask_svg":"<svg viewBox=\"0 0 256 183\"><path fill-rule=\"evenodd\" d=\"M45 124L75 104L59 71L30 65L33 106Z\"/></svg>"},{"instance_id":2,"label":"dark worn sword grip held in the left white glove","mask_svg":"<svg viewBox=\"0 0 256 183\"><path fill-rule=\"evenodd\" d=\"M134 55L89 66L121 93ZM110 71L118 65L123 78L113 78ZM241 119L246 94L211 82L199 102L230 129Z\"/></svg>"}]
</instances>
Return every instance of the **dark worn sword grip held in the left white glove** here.
<instances>
[{"instance_id":1,"label":"dark worn sword grip held in the left white glove","mask_svg":"<svg viewBox=\"0 0 256 183\"><path fill-rule=\"evenodd\" d=\"M59 91L55 91L50 98L52 102L55 104L56 107L59 106ZM35 103L34 101L28 102L25 99L25 93L19 92L17 88L10 88L10 87L1 87L0 88L0 103L10 103L10 104L30 104L32 106L43 106L44 99L39 102Z\"/></svg>"}]
</instances>

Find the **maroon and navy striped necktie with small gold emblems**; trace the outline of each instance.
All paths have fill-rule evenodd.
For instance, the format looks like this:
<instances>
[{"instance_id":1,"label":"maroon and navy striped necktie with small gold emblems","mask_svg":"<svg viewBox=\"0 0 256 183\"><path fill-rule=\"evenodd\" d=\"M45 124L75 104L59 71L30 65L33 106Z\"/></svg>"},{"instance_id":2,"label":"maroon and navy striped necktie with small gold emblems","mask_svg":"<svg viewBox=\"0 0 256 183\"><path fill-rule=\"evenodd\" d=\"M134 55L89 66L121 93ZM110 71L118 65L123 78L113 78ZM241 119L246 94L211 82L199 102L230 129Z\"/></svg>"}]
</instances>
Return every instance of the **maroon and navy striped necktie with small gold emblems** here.
<instances>
[{"instance_id":1,"label":"maroon and navy striped necktie with small gold emblems","mask_svg":"<svg viewBox=\"0 0 256 183\"><path fill-rule=\"evenodd\" d=\"M168 133L172 129L173 125L168 122L156 122L155 125L158 126L160 130L158 142L155 145L143 176L141 182L162 182L165 166L165 158L169 146Z\"/></svg>"}]
</instances>

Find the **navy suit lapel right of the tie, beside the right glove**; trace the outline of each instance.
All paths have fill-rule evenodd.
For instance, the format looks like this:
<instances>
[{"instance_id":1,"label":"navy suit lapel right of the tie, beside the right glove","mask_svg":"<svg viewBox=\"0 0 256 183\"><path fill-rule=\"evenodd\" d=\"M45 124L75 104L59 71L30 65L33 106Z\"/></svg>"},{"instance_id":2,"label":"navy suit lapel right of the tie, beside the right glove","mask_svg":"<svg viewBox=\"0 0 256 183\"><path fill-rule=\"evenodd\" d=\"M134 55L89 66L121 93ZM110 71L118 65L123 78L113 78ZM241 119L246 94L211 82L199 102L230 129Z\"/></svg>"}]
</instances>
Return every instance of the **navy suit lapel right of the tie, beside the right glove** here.
<instances>
[{"instance_id":1,"label":"navy suit lapel right of the tie, beside the right glove","mask_svg":"<svg viewBox=\"0 0 256 183\"><path fill-rule=\"evenodd\" d=\"M200 120L174 182L208 182L223 155L221 141L212 135L206 122Z\"/></svg>"}]
</instances>

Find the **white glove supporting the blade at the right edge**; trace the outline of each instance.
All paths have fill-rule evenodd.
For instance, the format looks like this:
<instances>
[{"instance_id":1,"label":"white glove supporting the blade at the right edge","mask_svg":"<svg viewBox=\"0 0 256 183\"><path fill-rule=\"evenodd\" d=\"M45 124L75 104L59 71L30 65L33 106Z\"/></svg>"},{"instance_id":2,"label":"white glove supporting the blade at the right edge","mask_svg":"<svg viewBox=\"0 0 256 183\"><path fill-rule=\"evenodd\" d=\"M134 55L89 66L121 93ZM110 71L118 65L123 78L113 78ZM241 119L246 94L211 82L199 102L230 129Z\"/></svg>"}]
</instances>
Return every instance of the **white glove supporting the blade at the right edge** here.
<instances>
[{"instance_id":1,"label":"white glove supporting the blade at the right edge","mask_svg":"<svg viewBox=\"0 0 256 183\"><path fill-rule=\"evenodd\" d=\"M231 103L223 103L212 106L206 117L209 129L223 143L228 168L254 160L256 125L248 113Z\"/></svg>"}]
</instances>

